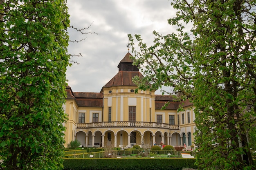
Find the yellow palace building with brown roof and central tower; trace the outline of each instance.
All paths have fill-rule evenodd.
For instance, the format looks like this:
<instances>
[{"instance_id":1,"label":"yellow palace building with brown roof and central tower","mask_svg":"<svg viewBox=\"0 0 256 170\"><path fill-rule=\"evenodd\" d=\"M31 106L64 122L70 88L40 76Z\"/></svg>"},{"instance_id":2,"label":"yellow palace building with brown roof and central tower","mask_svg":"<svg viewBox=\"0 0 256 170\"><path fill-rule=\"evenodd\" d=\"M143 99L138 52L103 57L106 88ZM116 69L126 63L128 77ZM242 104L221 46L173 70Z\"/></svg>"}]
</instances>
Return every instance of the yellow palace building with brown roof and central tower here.
<instances>
[{"instance_id":1,"label":"yellow palace building with brown roof and central tower","mask_svg":"<svg viewBox=\"0 0 256 170\"><path fill-rule=\"evenodd\" d=\"M84 147L151 147L161 141L165 145L193 145L195 129L193 104L174 102L171 95L155 95L155 91L135 93L135 75L142 77L132 65L128 52L120 61L118 73L99 93L73 92L66 87L64 105L65 147L79 140ZM166 102L166 109L161 110ZM185 111L178 112L180 104Z\"/></svg>"}]
</instances>

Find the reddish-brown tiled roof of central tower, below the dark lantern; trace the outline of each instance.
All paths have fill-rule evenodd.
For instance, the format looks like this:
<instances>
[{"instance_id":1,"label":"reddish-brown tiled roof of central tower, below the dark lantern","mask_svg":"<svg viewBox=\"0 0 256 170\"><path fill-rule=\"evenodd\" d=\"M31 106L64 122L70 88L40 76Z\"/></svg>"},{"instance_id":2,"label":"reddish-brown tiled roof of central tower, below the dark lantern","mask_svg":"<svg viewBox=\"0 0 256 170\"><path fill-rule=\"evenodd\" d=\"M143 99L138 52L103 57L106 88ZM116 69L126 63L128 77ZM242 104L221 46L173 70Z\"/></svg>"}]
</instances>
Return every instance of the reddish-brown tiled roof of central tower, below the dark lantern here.
<instances>
[{"instance_id":1,"label":"reddish-brown tiled roof of central tower, below the dark lantern","mask_svg":"<svg viewBox=\"0 0 256 170\"><path fill-rule=\"evenodd\" d=\"M132 78L135 75L143 77L139 71L119 71L103 88L111 86L136 86L132 82Z\"/></svg>"}]
</instances>

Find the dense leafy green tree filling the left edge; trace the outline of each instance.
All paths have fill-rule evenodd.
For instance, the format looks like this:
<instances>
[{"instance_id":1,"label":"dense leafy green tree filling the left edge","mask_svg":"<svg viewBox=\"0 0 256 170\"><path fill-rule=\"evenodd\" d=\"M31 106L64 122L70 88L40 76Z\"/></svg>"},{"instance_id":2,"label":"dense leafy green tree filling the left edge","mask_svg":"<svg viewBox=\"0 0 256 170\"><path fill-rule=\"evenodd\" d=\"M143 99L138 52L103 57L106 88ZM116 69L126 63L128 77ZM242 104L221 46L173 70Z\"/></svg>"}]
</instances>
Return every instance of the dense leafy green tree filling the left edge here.
<instances>
[{"instance_id":1,"label":"dense leafy green tree filling the left edge","mask_svg":"<svg viewBox=\"0 0 256 170\"><path fill-rule=\"evenodd\" d=\"M0 2L0 169L62 169L66 0Z\"/></svg>"}]
</instances>

